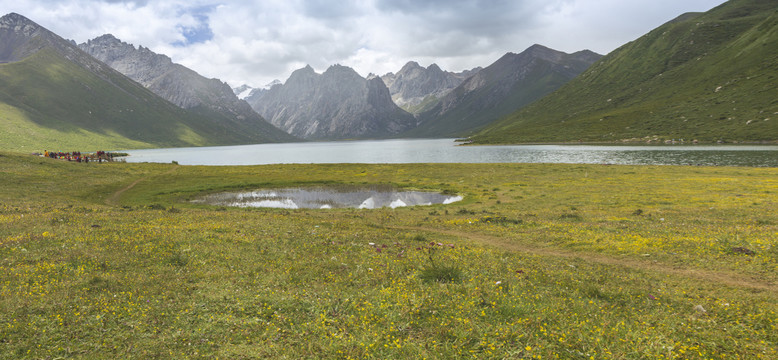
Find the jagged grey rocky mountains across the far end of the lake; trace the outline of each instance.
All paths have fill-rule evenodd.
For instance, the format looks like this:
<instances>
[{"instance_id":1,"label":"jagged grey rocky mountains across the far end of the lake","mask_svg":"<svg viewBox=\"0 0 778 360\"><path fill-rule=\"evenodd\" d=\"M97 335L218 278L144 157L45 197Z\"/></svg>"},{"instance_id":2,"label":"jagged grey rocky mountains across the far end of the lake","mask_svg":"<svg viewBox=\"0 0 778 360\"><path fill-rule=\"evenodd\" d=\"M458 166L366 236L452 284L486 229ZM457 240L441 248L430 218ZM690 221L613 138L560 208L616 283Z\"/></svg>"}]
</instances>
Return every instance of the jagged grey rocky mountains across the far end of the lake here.
<instances>
[{"instance_id":1,"label":"jagged grey rocky mountains across the far end of the lake","mask_svg":"<svg viewBox=\"0 0 778 360\"><path fill-rule=\"evenodd\" d=\"M362 78L345 66L323 74L308 66L247 101L304 139L464 136L559 88L599 58L534 45L461 73L409 62L397 74Z\"/></svg>"}]
</instances>

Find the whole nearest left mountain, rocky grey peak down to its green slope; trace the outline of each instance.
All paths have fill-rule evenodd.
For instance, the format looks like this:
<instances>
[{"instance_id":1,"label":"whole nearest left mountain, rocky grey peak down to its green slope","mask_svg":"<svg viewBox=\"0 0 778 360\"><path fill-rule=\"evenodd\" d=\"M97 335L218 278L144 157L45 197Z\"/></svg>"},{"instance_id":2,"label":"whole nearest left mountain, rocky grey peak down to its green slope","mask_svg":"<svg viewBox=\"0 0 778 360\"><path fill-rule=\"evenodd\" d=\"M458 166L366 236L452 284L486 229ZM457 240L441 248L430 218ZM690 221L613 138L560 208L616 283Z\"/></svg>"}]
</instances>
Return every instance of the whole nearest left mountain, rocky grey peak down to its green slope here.
<instances>
[{"instance_id":1,"label":"whole nearest left mountain, rocky grey peak down to its green slope","mask_svg":"<svg viewBox=\"0 0 778 360\"><path fill-rule=\"evenodd\" d=\"M264 120L183 109L22 15L0 18L0 142L116 149L288 141Z\"/></svg>"}]
</instances>

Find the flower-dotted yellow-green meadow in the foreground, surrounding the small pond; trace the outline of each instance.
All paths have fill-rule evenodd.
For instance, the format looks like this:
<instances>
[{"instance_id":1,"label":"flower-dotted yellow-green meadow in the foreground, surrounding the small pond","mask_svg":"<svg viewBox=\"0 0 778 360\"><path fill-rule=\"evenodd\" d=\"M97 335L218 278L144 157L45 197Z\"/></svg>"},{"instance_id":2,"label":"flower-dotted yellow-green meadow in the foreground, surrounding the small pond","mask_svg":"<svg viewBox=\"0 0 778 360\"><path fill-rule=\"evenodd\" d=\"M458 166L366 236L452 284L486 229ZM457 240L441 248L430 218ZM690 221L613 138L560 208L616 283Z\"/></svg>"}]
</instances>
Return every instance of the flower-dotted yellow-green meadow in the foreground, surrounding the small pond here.
<instances>
[{"instance_id":1,"label":"flower-dotted yellow-green meadow in the foreground, surrounding the small pond","mask_svg":"<svg viewBox=\"0 0 778 360\"><path fill-rule=\"evenodd\" d=\"M0 153L0 358L771 359L776 179L774 168ZM465 200L187 202L338 184Z\"/></svg>"}]
</instances>

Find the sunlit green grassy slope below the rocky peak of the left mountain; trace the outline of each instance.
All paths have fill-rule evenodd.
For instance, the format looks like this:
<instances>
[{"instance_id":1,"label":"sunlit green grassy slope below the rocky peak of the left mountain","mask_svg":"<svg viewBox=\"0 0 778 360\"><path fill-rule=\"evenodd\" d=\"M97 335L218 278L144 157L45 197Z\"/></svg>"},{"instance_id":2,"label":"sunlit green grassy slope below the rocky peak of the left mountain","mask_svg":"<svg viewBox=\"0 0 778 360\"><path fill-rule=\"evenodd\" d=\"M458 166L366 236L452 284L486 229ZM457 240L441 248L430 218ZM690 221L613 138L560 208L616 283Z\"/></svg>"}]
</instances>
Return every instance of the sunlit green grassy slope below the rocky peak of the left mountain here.
<instances>
[{"instance_id":1,"label":"sunlit green grassy slope below the rocky peak of the left mountain","mask_svg":"<svg viewBox=\"0 0 778 360\"><path fill-rule=\"evenodd\" d=\"M185 111L118 73L97 76L51 49L0 64L0 148L99 150L259 142Z\"/></svg>"}]
</instances>

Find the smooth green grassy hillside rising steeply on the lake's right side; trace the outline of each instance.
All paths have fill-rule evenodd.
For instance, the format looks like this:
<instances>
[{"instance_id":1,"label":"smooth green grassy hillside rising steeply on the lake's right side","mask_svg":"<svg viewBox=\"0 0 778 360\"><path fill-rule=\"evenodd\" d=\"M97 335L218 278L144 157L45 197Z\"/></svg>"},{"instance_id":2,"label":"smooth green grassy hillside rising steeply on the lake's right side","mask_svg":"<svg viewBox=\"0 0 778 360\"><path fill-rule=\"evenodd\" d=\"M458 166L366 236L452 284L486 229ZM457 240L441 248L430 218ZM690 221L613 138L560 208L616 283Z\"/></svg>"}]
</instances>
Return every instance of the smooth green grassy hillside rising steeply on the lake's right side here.
<instances>
[{"instance_id":1,"label":"smooth green grassy hillside rising steeply on the lake's right side","mask_svg":"<svg viewBox=\"0 0 778 360\"><path fill-rule=\"evenodd\" d=\"M778 141L776 9L733 0L679 17L473 140Z\"/></svg>"}]
</instances>

